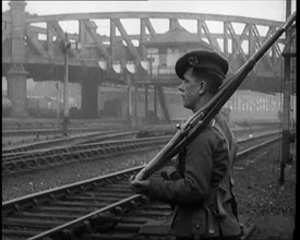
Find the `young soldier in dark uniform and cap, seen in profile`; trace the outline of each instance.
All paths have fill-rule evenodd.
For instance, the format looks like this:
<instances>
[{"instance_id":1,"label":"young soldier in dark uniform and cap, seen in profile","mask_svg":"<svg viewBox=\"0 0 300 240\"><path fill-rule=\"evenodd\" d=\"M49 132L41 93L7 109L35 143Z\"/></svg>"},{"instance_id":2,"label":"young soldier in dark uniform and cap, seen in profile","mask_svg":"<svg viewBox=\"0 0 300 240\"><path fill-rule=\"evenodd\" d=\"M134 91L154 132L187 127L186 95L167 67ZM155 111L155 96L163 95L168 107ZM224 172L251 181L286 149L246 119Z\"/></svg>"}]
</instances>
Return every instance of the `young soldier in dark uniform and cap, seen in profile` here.
<instances>
[{"instance_id":1,"label":"young soldier in dark uniform and cap, seen in profile","mask_svg":"<svg viewBox=\"0 0 300 240\"><path fill-rule=\"evenodd\" d=\"M176 63L183 106L196 112L218 91L228 62L214 51L192 51ZM237 204L232 192L232 165L237 144L221 115L178 154L176 168L163 178L130 179L136 193L175 206L171 229L179 239L240 239Z\"/></svg>"}]
</instances>

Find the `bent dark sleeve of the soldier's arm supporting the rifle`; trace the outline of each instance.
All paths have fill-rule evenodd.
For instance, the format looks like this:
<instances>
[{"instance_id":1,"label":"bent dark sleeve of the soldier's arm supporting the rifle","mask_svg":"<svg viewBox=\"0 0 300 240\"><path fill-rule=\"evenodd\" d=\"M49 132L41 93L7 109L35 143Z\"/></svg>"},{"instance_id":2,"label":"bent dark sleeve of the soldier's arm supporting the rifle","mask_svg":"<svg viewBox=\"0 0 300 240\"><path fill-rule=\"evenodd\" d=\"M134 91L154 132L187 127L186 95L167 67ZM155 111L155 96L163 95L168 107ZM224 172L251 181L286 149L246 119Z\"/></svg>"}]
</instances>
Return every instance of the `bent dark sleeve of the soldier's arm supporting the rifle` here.
<instances>
[{"instance_id":1,"label":"bent dark sleeve of the soldier's arm supporting the rifle","mask_svg":"<svg viewBox=\"0 0 300 240\"><path fill-rule=\"evenodd\" d=\"M187 147L184 177L177 181L152 179L146 194L151 199L175 204L203 201L209 192L213 158L218 152L215 141L219 141L216 134L203 131Z\"/></svg>"}]
</instances>

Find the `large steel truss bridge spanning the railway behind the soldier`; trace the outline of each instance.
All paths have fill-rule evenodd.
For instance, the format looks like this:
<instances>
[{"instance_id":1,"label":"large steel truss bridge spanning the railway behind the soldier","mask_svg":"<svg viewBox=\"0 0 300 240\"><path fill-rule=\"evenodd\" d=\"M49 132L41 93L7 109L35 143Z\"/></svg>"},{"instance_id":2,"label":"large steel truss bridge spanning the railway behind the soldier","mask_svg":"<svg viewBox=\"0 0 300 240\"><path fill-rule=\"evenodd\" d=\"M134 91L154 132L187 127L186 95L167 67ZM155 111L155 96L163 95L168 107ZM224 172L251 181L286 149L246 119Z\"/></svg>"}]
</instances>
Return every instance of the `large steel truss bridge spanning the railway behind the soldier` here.
<instances>
[{"instance_id":1,"label":"large steel truss bridge spanning the railway behind the soldier","mask_svg":"<svg viewBox=\"0 0 300 240\"><path fill-rule=\"evenodd\" d=\"M63 81L65 33L61 24L76 22L77 34L68 34L69 41L80 50L69 50L69 81L82 84L82 110L97 112L97 85L106 82L133 86L153 85L164 107L164 86L179 82L173 65L158 61L153 64L149 49L157 48L158 58L168 59L168 48L180 52L209 46L225 56L235 73L273 35L280 22L241 16L179 12L106 12L36 15L25 11L25 2L10 2L2 13L2 76L8 80L8 96L15 116L26 112L26 79ZM131 34L124 22L139 25ZM159 33L157 23L165 21L168 29ZM108 24L109 34L99 23ZM184 28L194 26L194 33ZM37 26L38 24L38 26ZM215 26L218 25L218 33ZM280 37L255 65L243 87L274 91L283 77ZM165 56L165 57L164 57ZM272 84L267 84L272 83ZM268 89L268 87L275 87ZM167 111L167 109L165 109ZM87 113L88 115L88 113ZM167 113L166 113L167 115Z\"/></svg>"}]
</instances>

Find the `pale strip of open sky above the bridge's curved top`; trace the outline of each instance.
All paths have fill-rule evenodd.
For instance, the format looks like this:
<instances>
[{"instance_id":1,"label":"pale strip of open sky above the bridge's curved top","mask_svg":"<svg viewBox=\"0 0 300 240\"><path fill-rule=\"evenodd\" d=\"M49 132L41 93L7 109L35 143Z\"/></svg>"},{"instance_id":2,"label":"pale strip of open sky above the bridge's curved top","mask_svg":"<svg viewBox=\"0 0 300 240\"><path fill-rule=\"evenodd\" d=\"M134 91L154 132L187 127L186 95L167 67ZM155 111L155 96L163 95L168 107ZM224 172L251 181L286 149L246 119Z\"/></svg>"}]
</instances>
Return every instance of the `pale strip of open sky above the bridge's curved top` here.
<instances>
[{"instance_id":1,"label":"pale strip of open sky above the bridge's curved top","mask_svg":"<svg viewBox=\"0 0 300 240\"><path fill-rule=\"evenodd\" d=\"M2 12L9 9L2 1ZM296 10L296 0L292 12ZM26 1L26 11L38 15L83 12L163 11L240 15L284 21L286 0L196 0L196 1Z\"/></svg>"}]
</instances>

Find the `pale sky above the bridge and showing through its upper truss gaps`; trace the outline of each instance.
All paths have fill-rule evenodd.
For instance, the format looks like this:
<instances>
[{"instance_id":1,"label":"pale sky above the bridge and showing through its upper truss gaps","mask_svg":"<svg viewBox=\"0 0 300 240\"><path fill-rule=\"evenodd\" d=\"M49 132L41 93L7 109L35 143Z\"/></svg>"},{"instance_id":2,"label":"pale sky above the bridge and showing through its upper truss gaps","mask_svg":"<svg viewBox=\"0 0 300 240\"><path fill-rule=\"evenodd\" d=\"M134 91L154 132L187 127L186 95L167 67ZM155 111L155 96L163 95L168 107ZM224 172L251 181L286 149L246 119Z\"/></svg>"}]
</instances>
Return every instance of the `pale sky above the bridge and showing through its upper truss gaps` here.
<instances>
[{"instance_id":1,"label":"pale sky above the bridge and showing through its upper truss gaps","mask_svg":"<svg viewBox=\"0 0 300 240\"><path fill-rule=\"evenodd\" d=\"M88 12L187 12L207 13L233 16L247 16L284 22L286 19L286 0L194 0L194 1L25 1L26 12L37 15L50 15L61 13L88 13ZM2 12L9 10L9 1L2 1ZM291 0L293 12L296 0ZM137 21L122 20L123 26L129 34L139 34ZM167 20L166 20L167 21ZM152 21L156 33L168 31L168 23L164 20ZM104 20L94 21L98 26L97 32L109 36L109 22ZM180 24L191 33L196 32L196 23L181 21ZM35 24L46 27L45 23ZM79 22L60 22L64 32L77 34ZM212 32L214 26L208 26ZM218 32L216 27L216 32ZM241 28L242 29L242 28ZM239 32L236 28L237 33ZM262 29L264 31L264 29ZM266 31L265 31L266 32ZM261 33L265 34L265 33ZM117 33L117 35L119 35Z\"/></svg>"}]
</instances>

